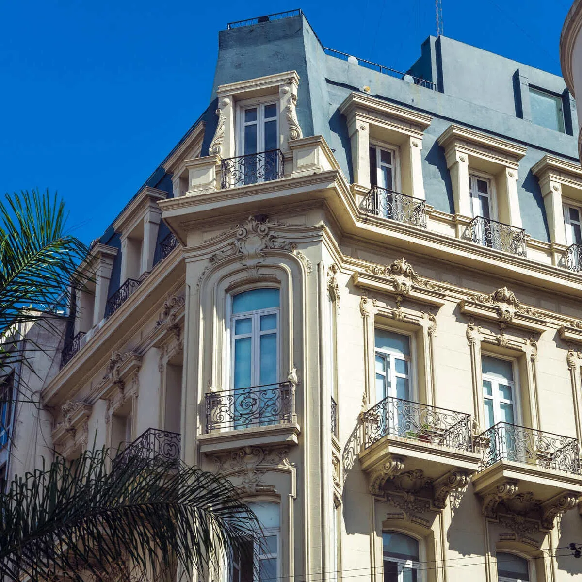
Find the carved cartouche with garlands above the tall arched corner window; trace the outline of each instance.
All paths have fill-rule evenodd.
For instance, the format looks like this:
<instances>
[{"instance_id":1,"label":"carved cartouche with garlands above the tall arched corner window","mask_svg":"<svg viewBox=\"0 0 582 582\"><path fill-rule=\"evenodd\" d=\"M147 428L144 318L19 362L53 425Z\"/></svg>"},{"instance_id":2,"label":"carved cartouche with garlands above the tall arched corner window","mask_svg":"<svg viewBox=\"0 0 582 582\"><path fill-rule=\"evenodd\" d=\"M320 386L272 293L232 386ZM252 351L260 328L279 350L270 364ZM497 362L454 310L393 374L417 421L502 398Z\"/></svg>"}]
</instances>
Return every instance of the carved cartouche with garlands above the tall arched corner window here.
<instances>
[{"instance_id":1,"label":"carved cartouche with garlands above the tall arched corner window","mask_svg":"<svg viewBox=\"0 0 582 582\"><path fill-rule=\"evenodd\" d=\"M201 272L196 283L196 290L200 289L200 285L207 274L208 270L214 265L218 265L232 257L237 257L243 267L249 269L249 276L257 276L257 265L267 258L265 251L276 250L293 253L303 263L307 274L313 272L313 265L311 261L297 249L297 244L290 240L283 240L278 237L272 229L278 226L287 225L282 222L272 222L268 219L257 220L255 217L249 217L243 224L239 224L234 228L223 231L219 237L229 236L234 237L235 240L229 242L225 249L214 253L208 259L208 265Z\"/></svg>"}]
</instances>

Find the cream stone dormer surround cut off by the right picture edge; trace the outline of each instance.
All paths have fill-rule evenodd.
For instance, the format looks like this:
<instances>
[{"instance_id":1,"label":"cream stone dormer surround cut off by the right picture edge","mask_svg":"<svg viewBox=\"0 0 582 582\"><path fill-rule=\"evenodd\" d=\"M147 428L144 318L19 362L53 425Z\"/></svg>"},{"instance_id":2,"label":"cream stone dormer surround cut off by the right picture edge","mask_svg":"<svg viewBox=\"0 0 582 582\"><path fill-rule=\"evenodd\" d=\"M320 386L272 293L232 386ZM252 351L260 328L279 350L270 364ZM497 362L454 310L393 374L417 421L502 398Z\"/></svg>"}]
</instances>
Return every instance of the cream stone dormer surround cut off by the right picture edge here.
<instances>
[{"instance_id":1,"label":"cream stone dormer surround cut off by the right picture edge","mask_svg":"<svg viewBox=\"0 0 582 582\"><path fill-rule=\"evenodd\" d=\"M531 173L540 182L550 242L563 245L562 250L565 250L563 203L582 204L582 168L577 162L546 154L531 168Z\"/></svg>"}]
</instances>

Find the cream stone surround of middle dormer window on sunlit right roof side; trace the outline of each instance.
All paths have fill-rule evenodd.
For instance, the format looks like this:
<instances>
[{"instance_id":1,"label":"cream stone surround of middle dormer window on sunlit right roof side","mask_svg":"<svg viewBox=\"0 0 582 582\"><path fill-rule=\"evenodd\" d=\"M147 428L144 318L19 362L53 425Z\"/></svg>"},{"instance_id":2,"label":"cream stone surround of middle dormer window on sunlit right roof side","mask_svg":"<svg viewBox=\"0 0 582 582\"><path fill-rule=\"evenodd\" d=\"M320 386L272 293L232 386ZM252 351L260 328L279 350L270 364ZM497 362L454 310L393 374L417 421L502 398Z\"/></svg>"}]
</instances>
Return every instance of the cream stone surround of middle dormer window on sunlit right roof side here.
<instances>
[{"instance_id":1,"label":"cream stone surround of middle dormer window on sunlit right roof side","mask_svg":"<svg viewBox=\"0 0 582 582\"><path fill-rule=\"evenodd\" d=\"M472 169L494 178L500 222L521 228L517 195L519 161L527 148L469 127L452 123L437 139L445 150L455 203L455 215L470 219L469 173Z\"/></svg>"}]
</instances>

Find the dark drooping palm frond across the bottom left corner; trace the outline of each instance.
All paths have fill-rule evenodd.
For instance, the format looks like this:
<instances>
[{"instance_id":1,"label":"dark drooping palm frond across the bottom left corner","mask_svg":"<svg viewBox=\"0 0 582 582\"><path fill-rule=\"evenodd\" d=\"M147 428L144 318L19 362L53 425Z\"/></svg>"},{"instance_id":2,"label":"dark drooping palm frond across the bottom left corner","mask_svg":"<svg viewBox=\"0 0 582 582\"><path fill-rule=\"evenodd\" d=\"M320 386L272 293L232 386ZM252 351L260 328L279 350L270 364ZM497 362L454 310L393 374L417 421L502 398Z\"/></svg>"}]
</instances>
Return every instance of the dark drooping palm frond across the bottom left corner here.
<instances>
[{"instance_id":1,"label":"dark drooping palm frond across the bottom left corner","mask_svg":"<svg viewBox=\"0 0 582 582\"><path fill-rule=\"evenodd\" d=\"M0 494L0 579L100 580L119 563L158 580L177 561L202 572L255 538L257 519L218 475L109 452L57 457Z\"/></svg>"}]
</instances>

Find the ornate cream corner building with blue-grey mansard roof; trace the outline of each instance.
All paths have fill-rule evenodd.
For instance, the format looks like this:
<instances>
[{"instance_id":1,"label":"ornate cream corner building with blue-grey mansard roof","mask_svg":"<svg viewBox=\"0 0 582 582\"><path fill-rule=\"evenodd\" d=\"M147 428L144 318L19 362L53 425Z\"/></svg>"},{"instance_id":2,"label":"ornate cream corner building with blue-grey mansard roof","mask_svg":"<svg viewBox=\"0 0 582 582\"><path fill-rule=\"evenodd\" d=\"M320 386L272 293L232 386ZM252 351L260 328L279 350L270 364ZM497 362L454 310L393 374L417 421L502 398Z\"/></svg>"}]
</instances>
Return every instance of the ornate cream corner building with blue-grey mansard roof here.
<instances>
[{"instance_id":1,"label":"ornate cream corner building with blue-grey mansard roof","mask_svg":"<svg viewBox=\"0 0 582 582\"><path fill-rule=\"evenodd\" d=\"M229 24L207 111L91 247L9 473L93 442L218 471L265 581L582 574L578 133L561 77L450 38L404 74L300 11Z\"/></svg>"}]
</instances>

